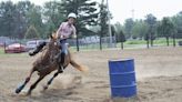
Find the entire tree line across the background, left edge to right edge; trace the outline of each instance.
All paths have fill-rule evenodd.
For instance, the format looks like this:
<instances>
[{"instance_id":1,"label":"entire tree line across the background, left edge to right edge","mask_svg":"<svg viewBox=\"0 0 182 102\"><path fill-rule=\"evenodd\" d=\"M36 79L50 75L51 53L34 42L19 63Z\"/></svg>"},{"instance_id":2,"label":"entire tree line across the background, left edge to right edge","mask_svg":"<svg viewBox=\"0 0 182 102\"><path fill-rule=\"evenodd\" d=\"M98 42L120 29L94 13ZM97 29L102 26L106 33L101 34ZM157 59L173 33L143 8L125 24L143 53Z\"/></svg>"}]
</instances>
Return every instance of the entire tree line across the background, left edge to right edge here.
<instances>
[{"instance_id":1,"label":"entire tree line across the background, left edge to right edge","mask_svg":"<svg viewBox=\"0 0 182 102\"><path fill-rule=\"evenodd\" d=\"M67 16L74 12L78 16L75 28L78 30L77 47L79 50L79 38L97 34L100 38L109 35L109 18L107 4L93 0L54 0L46 2L42 7L26 0L13 3L12 1L0 2L0 35L32 39L48 38L55 31L60 23L67 20ZM122 19L122 17L121 17ZM144 39L153 45L158 38L182 38L182 12L173 17L158 20L152 13L145 19L133 20L129 18L123 24L117 22L111 26L112 35L118 42L128 39ZM123 45L121 45L123 47ZM102 42L100 40L100 49Z\"/></svg>"}]
</instances>

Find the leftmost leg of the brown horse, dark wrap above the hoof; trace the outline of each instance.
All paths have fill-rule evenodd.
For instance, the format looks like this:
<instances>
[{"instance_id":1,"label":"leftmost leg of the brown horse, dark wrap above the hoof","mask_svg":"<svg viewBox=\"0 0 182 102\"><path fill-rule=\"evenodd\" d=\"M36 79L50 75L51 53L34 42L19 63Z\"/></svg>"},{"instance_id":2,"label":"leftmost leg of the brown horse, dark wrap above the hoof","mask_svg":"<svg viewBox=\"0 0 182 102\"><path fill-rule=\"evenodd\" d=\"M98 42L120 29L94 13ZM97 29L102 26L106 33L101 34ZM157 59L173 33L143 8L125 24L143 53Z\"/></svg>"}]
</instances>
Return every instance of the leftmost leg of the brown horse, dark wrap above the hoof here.
<instances>
[{"instance_id":1,"label":"leftmost leg of the brown horse, dark wrap above the hoof","mask_svg":"<svg viewBox=\"0 0 182 102\"><path fill-rule=\"evenodd\" d=\"M19 88L16 89L16 93L20 93L21 90L26 86L26 84L30 81L30 78L32 75L32 73L34 72L34 69L31 69L29 76L26 79L26 81L23 82L23 84L21 84Z\"/></svg>"}]
</instances>

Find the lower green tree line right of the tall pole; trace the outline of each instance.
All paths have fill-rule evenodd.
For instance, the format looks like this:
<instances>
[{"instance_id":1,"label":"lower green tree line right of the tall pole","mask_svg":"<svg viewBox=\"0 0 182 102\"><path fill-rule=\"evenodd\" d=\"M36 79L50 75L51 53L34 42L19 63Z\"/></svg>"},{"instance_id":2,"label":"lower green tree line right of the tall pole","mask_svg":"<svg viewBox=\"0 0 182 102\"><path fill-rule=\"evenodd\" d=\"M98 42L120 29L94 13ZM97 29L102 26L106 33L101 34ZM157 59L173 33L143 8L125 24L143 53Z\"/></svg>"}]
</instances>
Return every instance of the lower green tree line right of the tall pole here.
<instances>
[{"instance_id":1,"label":"lower green tree line right of the tall pole","mask_svg":"<svg viewBox=\"0 0 182 102\"><path fill-rule=\"evenodd\" d=\"M146 14L145 19L133 20L129 18L124 21L124 24L115 23L114 27L120 29L124 33L127 39L143 39L149 45L153 45L153 41L158 38L165 38L166 45L169 45L169 39L173 39L173 45L175 45L175 39L182 38L182 12L176 13L173 17L164 17L162 20L158 20L152 13Z\"/></svg>"}]
</instances>

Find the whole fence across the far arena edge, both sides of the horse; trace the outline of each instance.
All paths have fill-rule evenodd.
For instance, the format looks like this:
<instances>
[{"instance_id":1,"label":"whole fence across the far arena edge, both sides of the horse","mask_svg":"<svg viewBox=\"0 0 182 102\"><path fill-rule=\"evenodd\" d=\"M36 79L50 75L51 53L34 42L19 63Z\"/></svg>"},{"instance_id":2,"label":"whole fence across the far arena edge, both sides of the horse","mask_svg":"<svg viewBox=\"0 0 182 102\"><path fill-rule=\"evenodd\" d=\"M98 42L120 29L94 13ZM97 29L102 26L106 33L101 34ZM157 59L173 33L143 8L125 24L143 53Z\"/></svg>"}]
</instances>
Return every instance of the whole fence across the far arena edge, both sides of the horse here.
<instances>
[{"instance_id":1,"label":"whole fence across the far arena edge, both sides of the horse","mask_svg":"<svg viewBox=\"0 0 182 102\"><path fill-rule=\"evenodd\" d=\"M7 37L0 37L0 47L9 45L11 43L21 43L27 44L27 42L30 41L28 39L19 40L19 39L9 39ZM77 40L75 39L69 39L68 42L71 45L71 49L77 50ZM182 39L175 40L175 45L182 45ZM149 43L150 44L150 43ZM122 44L121 42L117 42L115 38L112 37L112 43L110 43L110 37L101 38L101 45L102 50L104 49L121 49ZM173 45L173 40L170 39L170 45ZM150 48L159 48L159 47L166 47L166 40L164 38L155 39L153 41L153 47L149 45ZM79 39L79 48L80 51L82 50L100 50L100 38L98 35L92 37L85 37L82 39ZM123 43L124 49L146 49L146 41L145 40L127 40Z\"/></svg>"}]
</instances>

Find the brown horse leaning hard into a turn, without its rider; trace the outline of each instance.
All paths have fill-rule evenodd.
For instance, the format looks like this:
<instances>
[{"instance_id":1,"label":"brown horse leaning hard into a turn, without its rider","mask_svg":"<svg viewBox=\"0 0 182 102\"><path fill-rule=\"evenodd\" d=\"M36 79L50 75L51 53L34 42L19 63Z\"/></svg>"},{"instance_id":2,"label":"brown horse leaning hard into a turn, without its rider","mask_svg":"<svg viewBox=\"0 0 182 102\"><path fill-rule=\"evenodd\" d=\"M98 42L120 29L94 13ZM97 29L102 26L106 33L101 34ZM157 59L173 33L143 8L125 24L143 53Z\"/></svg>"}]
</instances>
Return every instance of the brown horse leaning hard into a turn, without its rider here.
<instances>
[{"instance_id":1,"label":"brown horse leaning hard into a turn, without its rider","mask_svg":"<svg viewBox=\"0 0 182 102\"><path fill-rule=\"evenodd\" d=\"M32 69L30 70L29 75L26 78L24 82L16 89L16 93L20 93L21 90L26 86L26 84L30 81L31 75L33 72L38 72L39 78L37 81L31 84L30 89L28 90L27 95L30 95L32 90L36 89L37 84L49 73L52 71L55 71L53 76L48 81L47 85L43 88L43 90L47 90L48 86L52 83L53 79L58 76L59 73L62 73L63 70L71 64L73 68L78 69L79 71L85 72L88 69L78 62L75 62L71 53L68 49L68 54L64 58L64 63L61 64L58 62L58 59L55 59L55 55L60 53L60 48L58 44L58 38L55 33L52 33L50 35L50 41L47 43L47 45L43 48L43 51L41 52L40 57L33 62ZM60 60L61 58L59 58Z\"/></svg>"}]
</instances>

